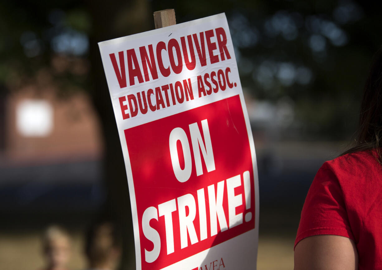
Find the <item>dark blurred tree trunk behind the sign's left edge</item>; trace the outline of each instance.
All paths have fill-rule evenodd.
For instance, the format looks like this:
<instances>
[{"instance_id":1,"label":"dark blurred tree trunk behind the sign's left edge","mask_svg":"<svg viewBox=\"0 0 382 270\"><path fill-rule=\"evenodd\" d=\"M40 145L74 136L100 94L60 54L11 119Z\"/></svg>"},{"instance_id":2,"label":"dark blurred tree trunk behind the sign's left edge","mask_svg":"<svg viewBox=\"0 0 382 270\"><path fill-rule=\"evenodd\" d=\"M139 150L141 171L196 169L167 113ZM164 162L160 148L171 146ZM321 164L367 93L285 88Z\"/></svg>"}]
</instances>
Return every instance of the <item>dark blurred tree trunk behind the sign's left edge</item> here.
<instances>
[{"instance_id":1,"label":"dark blurred tree trunk behind the sign's left edge","mask_svg":"<svg viewBox=\"0 0 382 270\"><path fill-rule=\"evenodd\" d=\"M114 211L123 226L122 269L135 269L135 249L130 198L121 143L110 102L97 42L150 30L152 17L146 1L89 0L92 31L90 93L99 113L105 140L105 185L108 196L106 211Z\"/></svg>"}]
</instances>

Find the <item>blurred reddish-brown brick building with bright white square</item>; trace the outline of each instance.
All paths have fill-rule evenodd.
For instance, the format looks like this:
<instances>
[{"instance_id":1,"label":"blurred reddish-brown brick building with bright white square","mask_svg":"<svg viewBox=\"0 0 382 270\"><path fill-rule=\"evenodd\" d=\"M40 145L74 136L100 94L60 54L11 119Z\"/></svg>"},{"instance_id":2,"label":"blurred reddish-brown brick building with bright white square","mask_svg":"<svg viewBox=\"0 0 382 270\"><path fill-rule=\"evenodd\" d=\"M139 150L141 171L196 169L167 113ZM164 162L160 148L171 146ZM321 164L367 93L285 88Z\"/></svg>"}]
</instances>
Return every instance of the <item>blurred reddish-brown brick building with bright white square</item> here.
<instances>
[{"instance_id":1,"label":"blurred reddish-brown brick building with bright white square","mask_svg":"<svg viewBox=\"0 0 382 270\"><path fill-rule=\"evenodd\" d=\"M99 125L89 97L29 86L5 98L3 157L10 163L98 159Z\"/></svg>"}]
</instances>

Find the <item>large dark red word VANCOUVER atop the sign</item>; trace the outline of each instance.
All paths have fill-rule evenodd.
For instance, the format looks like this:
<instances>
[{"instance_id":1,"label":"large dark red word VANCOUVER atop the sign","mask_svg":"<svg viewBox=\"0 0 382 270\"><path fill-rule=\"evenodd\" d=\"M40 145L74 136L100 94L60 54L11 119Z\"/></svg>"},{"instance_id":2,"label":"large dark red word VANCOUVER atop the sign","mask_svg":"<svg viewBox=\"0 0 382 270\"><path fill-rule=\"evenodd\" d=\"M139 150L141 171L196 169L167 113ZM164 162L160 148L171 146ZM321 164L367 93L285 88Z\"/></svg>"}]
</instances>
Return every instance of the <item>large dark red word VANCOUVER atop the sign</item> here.
<instances>
[{"instance_id":1,"label":"large dark red word VANCOUVER atop the sign","mask_svg":"<svg viewBox=\"0 0 382 270\"><path fill-rule=\"evenodd\" d=\"M188 51L190 52L189 55ZM180 42L174 38L170 39L167 44L160 41L155 45L155 48L153 44L148 44L139 47L139 52L135 49L121 51L118 52L119 60L117 60L115 53L109 54L109 57L118 84L120 88L124 88L127 86L126 74L128 75L129 86L132 86L137 82L155 80L158 78L158 73L163 77L170 76L171 72L179 74L184 66L188 70L193 70L196 67L196 55L201 67L207 65L207 59L210 60L211 64L224 61L226 58L231 59L224 28L210 29L199 33L199 35L195 33L187 37L183 36L180 37ZM163 58L169 60L168 67L165 67Z\"/></svg>"}]
</instances>

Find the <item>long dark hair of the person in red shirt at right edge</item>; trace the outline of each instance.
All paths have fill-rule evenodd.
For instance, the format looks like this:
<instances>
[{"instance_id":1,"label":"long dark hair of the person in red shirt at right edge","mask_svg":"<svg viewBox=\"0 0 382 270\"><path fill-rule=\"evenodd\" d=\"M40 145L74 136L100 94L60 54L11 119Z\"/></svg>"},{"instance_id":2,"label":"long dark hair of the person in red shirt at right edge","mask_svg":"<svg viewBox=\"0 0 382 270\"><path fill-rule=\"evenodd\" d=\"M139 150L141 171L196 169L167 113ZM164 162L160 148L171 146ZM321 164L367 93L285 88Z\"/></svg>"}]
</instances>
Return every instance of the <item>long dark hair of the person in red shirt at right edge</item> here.
<instances>
[{"instance_id":1,"label":"long dark hair of the person in red shirt at right edge","mask_svg":"<svg viewBox=\"0 0 382 270\"><path fill-rule=\"evenodd\" d=\"M364 87L359 127L354 146L342 155L357 151L374 150L382 164L382 48L374 55Z\"/></svg>"}]
</instances>

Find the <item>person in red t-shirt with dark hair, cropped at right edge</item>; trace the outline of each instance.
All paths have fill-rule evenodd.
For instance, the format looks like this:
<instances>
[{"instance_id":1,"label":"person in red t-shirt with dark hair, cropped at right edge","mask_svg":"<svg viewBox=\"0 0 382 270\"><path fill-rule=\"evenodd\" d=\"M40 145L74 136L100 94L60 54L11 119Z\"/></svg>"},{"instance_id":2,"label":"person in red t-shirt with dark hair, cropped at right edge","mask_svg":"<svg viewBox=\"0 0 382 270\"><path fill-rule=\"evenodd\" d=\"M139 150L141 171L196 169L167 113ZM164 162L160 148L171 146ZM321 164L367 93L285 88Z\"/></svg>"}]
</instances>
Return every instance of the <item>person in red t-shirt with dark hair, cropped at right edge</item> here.
<instances>
[{"instance_id":1,"label":"person in red t-shirt with dark hair, cropped at right edge","mask_svg":"<svg viewBox=\"0 0 382 270\"><path fill-rule=\"evenodd\" d=\"M382 269L382 49L364 88L356 145L325 162L306 197L295 270Z\"/></svg>"}]
</instances>

